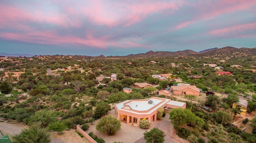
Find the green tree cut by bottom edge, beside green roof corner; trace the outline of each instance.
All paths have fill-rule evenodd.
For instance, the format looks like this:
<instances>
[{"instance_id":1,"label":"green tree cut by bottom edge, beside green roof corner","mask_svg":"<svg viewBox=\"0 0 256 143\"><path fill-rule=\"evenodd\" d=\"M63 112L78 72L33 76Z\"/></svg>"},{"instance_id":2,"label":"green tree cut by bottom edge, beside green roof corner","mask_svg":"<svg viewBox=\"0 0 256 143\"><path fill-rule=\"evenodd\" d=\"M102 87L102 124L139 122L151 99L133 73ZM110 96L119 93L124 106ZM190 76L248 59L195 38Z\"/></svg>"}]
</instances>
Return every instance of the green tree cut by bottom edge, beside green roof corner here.
<instances>
[{"instance_id":1,"label":"green tree cut by bottom edge, beside green roof corner","mask_svg":"<svg viewBox=\"0 0 256 143\"><path fill-rule=\"evenodd\" d=\"M32 126L28 129L23 129L19 135L12 137L12 143L50 143L50 133L47 133L44 129Z\"/></svg>"}]
</instances>

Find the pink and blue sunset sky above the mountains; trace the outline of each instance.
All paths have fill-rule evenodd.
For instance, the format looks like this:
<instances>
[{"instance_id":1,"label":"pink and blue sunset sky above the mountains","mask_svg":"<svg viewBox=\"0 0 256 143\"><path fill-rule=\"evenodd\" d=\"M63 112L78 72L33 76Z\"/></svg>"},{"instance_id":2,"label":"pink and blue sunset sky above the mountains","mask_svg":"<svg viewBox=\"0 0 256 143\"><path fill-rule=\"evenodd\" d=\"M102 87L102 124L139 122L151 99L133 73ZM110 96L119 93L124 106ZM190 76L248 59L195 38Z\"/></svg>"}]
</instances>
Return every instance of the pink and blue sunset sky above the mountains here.
<instances>
[{"instance_id":1,"label":"pink and blue sunset sky above the mountains","mask_svg":"<svg viewBox=\"0 0 256 143\"><path fill-rule=\"evenodd\" d=\"M1 0L0 53L256 47L256 0Z\"/></svg>"}]
</instances>

